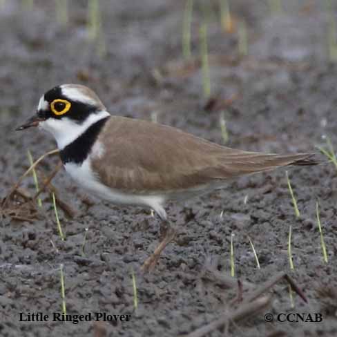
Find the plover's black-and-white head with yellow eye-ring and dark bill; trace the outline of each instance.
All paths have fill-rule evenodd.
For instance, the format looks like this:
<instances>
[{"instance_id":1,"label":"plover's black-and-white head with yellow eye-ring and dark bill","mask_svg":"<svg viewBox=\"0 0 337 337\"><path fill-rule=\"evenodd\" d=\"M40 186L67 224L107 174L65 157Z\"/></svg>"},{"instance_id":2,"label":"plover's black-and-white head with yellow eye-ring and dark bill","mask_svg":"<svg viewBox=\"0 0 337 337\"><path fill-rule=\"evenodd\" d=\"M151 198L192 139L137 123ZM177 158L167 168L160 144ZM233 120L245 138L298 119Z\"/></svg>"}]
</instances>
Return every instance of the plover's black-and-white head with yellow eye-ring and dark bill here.
<instances>
[{"instance_id":1,"label":"plover's black-and-white head with yellow eye-ring and dark bill","mask_svg":"<svg viewBox=\"0 0 337 337\"><path fill-rule=\"evenodd\" d=\"M93 90L79 84L62 84L47 91L39 100L36 114L16 130L38 126L55 137L61 150L109 115Z\"/></svg>"}]
</instances>

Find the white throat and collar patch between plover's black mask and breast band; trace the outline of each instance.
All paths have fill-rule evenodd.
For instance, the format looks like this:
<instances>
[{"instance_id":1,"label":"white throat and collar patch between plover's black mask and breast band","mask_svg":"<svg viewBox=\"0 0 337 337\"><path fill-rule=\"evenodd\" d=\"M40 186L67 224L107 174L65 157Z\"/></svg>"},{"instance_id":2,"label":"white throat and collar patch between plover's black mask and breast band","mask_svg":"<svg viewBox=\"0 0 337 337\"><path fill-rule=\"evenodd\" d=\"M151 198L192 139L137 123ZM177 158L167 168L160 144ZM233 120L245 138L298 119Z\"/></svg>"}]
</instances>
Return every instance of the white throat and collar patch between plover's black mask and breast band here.
<instances>
[{"instance_id":1,"label":"white throat and collar patch between plover's black mask and breast band","mask_svg":"<svg viewBox=\"0 0 337 337\"><path fill-rule=\"evenodd\" d=\"M90 114L81 124L77 124L68 117L62 119L48 118L44 122L39 122L39 128L51 133L55 137L57 147L59 150L62 150L77 139L77 137L84 133L90 126L108 116L110 116L110 113L102 110L98 113Z\"/></svg>"}]
</instances>

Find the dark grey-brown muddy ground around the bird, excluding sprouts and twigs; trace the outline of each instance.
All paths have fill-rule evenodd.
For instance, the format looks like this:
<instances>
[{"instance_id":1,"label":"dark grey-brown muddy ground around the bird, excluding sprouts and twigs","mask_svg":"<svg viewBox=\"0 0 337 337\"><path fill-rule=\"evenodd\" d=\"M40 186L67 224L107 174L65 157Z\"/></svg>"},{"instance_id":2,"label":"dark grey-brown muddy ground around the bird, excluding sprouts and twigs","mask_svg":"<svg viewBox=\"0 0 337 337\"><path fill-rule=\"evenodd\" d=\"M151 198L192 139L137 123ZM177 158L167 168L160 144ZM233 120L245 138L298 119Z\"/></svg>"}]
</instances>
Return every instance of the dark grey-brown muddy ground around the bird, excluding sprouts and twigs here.
<instances>
[{"instance_id":1,"label":"dark grey-brown muddy ground around the bird, excluding sprouts and twigs","mask_svg":"<svg viewBox=\"0 0 337 337\"><path fill-rule=\"evenodd\" d=\"M69 82L93 88L113 114L155 116L160 123L218 143L222 143L219 117L224 110L229 146L274 153L315 152L317 144L325 143L322 135L337 146L337 66L329 57L331 15L323 1L282 1L282 13L271 13L270 1L231 1L236 22L247 24L247 57L238 57L237 29L222 30L218 1L206 10L195 3L192 54L196 61L187 62L181 47L184 1L100 1L99 37L92 41L87 2L68 2L64 24L54 1L0 2L1 198L28 168L28 149L36 159L55 148L48 135L37 130L15 133L15 126L31 115L46 90ZM334 17L336 1L332 6ZM198 61L204 13L209 22L211 93L218 97L208 110ZM45 160L38 175L48 175L56 164L56 157ZM243 177L222 191L169 205L168 214L180 234L155 271L144 275L139 268L158 242L157 218L147 210L120 208L91 197L93 205L88 206L84 191L61 171L53 184L59 198L77 211L70 219L59 209L66 241L57 233L49 193L42 195L44 211L39 220L17 221L1 209L0 335L191 333L235 307L231 301L236 288L224 287L215 277L203 277L209 258L218 259L217 270L230 275L233 233L235 276L258 286L287 271L309 303L294 294L292 309L287 284L280 282L274 287L272 304L231 325L227 336L337 336L336 168L331 164L289 168L289 177L301 214L298 220L284 169ZM35 193L31 176L21 187ZM327 264L316 224L317 200ZM16 202L19 207L21 199ZM287 255L290 225L293 271ZM93 322L19 322L20 312L61 312L60 264L68 314L131 314L131 320L104 322L99 327ZM136 311L132 271L137 282ZM327 290L327 297L319 289ZM266 312L320 313L323 319L266 323ZM214 331L211 336L224 336L224 332Z\"/></svg>"}]
</instances>

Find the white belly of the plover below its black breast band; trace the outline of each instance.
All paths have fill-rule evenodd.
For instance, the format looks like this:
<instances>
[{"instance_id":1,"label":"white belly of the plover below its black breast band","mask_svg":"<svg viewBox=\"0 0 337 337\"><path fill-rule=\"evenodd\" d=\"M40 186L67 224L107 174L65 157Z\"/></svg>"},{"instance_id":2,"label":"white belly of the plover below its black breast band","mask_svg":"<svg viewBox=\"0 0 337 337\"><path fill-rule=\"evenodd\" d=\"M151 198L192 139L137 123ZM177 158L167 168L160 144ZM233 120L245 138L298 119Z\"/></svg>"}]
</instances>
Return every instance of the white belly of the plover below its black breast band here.
<instances>
[{"instance_id":1,"label":"white belly of the plover below its black breast band","mask_svg":"<svg viewBox=\"0 0 337 337\"><path fill-rule=\"evenodd\" d=\"M138 205L148 206L155 211L162 209L162 204L165 201L164 196L161 195L132 195L117 191L116 189L110 189L108 186L99 182L97 177L93 174L90 168L90 160L85 160L83 164L67 163L64 165L67 173L70 177L79 184L79 186L86 189L89 193L113 202L113 204L125 204L125 205Z\"/></svg>"}]
</instances>

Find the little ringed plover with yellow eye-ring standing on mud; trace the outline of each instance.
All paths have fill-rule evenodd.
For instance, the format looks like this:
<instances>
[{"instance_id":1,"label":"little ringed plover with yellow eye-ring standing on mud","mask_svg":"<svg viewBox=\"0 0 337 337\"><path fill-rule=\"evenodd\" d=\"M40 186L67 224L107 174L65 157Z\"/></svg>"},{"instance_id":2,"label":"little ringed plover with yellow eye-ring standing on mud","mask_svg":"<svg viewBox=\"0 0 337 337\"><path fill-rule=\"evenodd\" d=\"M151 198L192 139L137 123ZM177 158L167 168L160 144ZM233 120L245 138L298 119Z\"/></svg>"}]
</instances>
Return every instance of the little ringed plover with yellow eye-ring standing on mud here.
<instances>
[{"instance_id":1,"label":"little ringed plover with yellow eye-ring standing on mud","mask_svg":"<svg viewBox=\"0 0 337 337\"><path fill-rule=\"evenodd\" d=\"M278 155L242 151L178 128L110 115L99 97L80 84L62 84L39 99L32 126L51 133L68 175L112 204L142 206L159 216L162 240L142 269L153 269L177 229L165 205L209 193L242 175L290 165L318 164L314 153Z\"/></svg>"}]
</instances>

